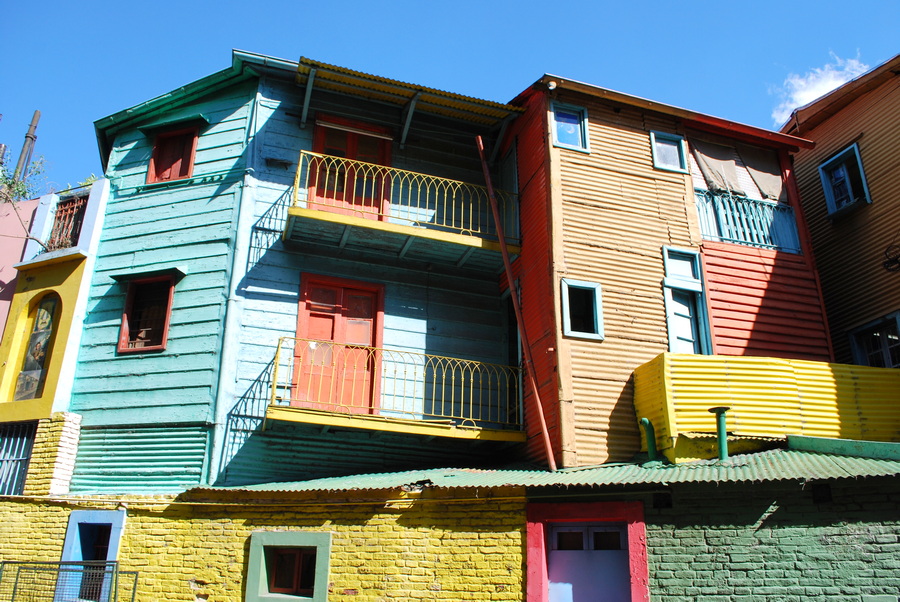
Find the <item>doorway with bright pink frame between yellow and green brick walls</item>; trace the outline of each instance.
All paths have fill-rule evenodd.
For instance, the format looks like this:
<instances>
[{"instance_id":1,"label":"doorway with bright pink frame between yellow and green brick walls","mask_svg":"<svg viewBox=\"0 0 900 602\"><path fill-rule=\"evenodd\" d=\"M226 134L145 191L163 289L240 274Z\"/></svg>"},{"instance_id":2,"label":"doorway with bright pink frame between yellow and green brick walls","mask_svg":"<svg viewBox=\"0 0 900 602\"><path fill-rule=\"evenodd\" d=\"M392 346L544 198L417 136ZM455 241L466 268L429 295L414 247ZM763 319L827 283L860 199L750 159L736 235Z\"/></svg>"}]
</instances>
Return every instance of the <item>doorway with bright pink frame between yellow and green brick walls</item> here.
<instances>
[{"instance_id":1,"label":"doorway with bright pink frame between yellow and green brick walls","mask_svg":"<svg viewBox=\"0 0 900 602\"><path fill-rule=\"evenodd\" d=\"M528 602L649 598L640 502L529 504Z\"/></svg>"}]
</instances>

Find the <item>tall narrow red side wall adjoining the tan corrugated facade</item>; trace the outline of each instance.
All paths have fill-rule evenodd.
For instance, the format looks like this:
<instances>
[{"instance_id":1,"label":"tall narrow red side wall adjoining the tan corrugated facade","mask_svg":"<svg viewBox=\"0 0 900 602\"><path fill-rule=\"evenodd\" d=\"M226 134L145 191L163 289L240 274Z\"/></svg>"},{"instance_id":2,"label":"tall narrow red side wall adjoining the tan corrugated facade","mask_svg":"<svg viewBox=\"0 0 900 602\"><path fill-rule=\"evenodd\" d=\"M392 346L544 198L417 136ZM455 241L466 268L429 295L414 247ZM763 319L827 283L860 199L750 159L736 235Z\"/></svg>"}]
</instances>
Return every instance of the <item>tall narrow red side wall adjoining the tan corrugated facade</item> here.
<instances>
[{"instance_id":1,"label":"tall narrow red side wall adjoining the tan corrugated facade","mask_svg":"<svg viewBox=\"0 0 900 602\"><path fill-rule=\"evenodd\" d=\"M519 221L522 254L513 263L519 280L525 328L531 343L535 375L544 419L557 461L561 458L559 382L556 364L556 307L553 260L550 250L549 157L547 156L547 104L544 96L531 94L527 112L513 122L507 144L516 146L519 180ZM546 452L536 405L529 388L523 387L528 457L545 464Z\"/></svg>"}]
</instances>

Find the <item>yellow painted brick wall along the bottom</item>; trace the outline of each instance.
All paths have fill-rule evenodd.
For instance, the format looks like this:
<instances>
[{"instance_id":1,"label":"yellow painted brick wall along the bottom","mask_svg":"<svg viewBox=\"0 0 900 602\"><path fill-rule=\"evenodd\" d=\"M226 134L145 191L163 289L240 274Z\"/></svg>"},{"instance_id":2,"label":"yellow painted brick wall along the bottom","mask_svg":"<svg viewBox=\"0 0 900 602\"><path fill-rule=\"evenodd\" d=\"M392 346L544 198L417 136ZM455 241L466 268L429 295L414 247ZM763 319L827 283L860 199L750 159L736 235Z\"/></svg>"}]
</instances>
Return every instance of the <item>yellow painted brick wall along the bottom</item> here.
<instances>
[{"instance_id":1,"label":"yellow painted brick wall along the bottom","mask_svg":"<svg viewBox=\"0 0 900 602\"><path fill-rule=\"evenodd\" d=\"M328 503L309 494L257 500L241 493L240 504L227 505L227 493L203 503L129 499L118 560L122 570L140 571L141 602L239 601L253 531L324 531L332 534L329 601L520 601L524 492L491 493L426 491L424 499L387 504L400 494ZM0 557L58 560L68 513L88 507L116 504L0 503Z\"/></svg>"}]
</instances>

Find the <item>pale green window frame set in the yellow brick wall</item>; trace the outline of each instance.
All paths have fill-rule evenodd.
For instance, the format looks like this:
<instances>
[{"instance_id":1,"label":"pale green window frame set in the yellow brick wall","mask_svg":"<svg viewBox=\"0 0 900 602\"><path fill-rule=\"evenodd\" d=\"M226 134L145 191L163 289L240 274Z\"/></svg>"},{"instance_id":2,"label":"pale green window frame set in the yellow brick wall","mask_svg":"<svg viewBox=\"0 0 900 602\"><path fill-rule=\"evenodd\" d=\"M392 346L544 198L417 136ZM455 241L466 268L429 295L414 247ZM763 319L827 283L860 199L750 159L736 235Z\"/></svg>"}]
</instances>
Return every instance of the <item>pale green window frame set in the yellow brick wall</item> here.
<instances>
[{"instance_id":1,"label":"pale green window frame set in the yellow brick wall","mask_svg":"<svg viewBox=\"0 0 900 602\"><path fill-rule=\"evenodd\" d=\"M315 548L316 577L312 596L296 596L269 591L266 548ZM250 534L245 602L326 602L331 559L331 533L313 531L256 531Z\"/></svg>"}]
</instances>

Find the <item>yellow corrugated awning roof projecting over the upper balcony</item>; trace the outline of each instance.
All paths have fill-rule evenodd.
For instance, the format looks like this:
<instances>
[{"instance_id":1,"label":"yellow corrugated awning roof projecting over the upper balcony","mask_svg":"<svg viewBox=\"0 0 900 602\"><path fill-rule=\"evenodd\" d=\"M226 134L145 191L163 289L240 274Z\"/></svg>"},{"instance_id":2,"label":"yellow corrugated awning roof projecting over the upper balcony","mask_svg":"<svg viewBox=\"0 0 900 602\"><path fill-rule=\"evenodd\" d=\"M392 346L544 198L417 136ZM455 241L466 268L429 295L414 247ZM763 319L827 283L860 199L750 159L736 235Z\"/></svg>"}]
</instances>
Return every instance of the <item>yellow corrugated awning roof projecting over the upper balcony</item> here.
<instances>
[{"instance_id":1,"label":"yellow corrugated awning roof projecting over the upper balcony","mask_svg":"<svg viewBox=\"0 0 900 602\"><path fill-rule=\"evenodd\" d=\"M410 106L415 101L416 111L437 113L454 119L492 126L524 111L513 105L426 88L304 57L300 58L297 66L297 82L306 84L313 70L314 87L400 106Z\"/></svg>"}]
</instances>

